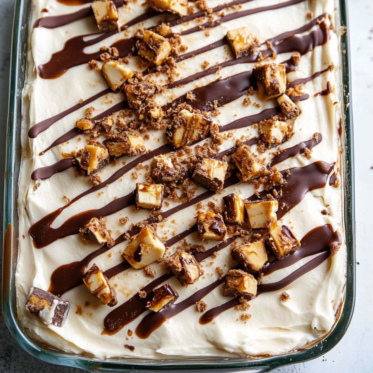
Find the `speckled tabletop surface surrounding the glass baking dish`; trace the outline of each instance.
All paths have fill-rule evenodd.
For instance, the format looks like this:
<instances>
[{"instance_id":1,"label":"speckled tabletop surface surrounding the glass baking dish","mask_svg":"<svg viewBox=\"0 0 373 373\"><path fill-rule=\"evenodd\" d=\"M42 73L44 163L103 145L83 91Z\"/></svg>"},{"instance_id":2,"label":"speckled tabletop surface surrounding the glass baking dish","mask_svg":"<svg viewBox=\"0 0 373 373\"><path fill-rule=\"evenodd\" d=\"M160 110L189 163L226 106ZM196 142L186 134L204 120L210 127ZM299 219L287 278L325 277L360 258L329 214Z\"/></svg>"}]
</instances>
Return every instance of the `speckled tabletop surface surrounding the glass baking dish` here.
<instances>
[{"instance_id":1,"label":"speckled tabletop surface surrounding the glass baking dish","mask_svg":"<svg viewBox=\"0 0 373 373\"><path fill-rule=\"evenodd\" d=\"M369 153L373 138L373 2L348 0L350 10L350 43L352 64L352 107L355 133L355 198L356 198L356 272L357 290L354 316L342 341L325 356L307 363L279 368L273 373L372 372L373 292L372 222L373 156ZM9 82L10 39L14 0L0 0L0 144L5 144ZM4 169L4 146L0 150L0 173ZM0 195L3 185L0 184ZM367 197L368 196L368 197ZM2 223L2 208L1 208ZM2 227L1 227L2 231ZM0 318L0 373L78 373L79 369L53 366L27 355L13 340Z\"/></svg>"}]
</instances>

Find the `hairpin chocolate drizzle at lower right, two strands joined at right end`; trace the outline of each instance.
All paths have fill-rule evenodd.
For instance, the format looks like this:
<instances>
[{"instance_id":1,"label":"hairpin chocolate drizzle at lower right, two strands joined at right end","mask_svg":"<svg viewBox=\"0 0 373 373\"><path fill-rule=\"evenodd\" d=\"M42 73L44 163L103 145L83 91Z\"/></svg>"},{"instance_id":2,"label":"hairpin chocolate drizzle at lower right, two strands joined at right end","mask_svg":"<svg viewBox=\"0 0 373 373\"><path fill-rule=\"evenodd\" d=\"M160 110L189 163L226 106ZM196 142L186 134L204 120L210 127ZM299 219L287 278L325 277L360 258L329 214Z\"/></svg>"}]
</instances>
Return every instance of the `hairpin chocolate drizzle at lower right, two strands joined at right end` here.
<instances>
[{"instance_id":1,"label":"hairpin chocolate drizzle at lower right, two strands joined at right end","mask_svg":"<svg viewBox=\"0 0 373 373\"><path fill-rule=\"evenodd\" d=\"M263 274L269 275L274 271L289 267L305 257L319 253L322 254L308 261L306 264L278 282L259 285L257 296L265 292L278 291L280 289L283 289L303 276L305 273L310 272L311 270L319 266L319 264L323 263L323 261L325 261L330 256L330 248L333 245L339 245L341 244L341 242L341 235L339 234L339 232L333 232L333 228L330 224L322 225L312 229L301 239L301 247L297 251L295 251L294 254L285 257L283 260L273 261L268 267L266 267ZM224 311L227 311L238 304L238 299L234 298L226 303L223 303L220 306L211 308L200 317L200 324L204 325L210 323Z\"/></svg>"}]
</instances>

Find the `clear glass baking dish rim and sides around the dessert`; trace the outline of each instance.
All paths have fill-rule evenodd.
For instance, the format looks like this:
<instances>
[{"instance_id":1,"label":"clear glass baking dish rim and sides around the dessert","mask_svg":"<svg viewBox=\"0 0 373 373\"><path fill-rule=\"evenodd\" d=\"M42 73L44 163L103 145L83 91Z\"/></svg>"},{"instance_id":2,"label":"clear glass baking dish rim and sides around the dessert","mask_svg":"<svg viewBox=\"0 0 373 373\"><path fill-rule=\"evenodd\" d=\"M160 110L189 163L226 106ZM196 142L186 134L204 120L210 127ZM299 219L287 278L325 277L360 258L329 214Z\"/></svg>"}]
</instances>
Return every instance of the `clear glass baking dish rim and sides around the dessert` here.
<instances>
[{"instance_id":1,"label":"clear glass baking dish rim and sides around the dessert","mask_svg":"<svg viewBox=\"0 0 373 373\"><path fill-rule=\"evenodd\" d=\"M339 13L335 25L348 26L346 0L336 0ZM261 358L175 358L172 360L145 360L112 358L99 360L88 355L56 351L33 341L17 319L15 269L18 254L18 178L21 163L21 93L25 80L27 38L31 1L16 0L13 23L12 54L9 86L9 113L7 126L6 170L4 192L4 247L2 312L6 325L19 345L32 356L53 364L78 367L90 372L269 372L284 366L311 360L325 354L342 338L350 323L355 301L355 214L354 214L354 156L351 109L350 56L348 33L340 34L342 66L341 97L343 97L343 136L341 179L344 185L345 241L347 244L347 282L345 300L339 320L330 334L313 347L285 355ZM343 35L342 35L343 34Z\"/></svg>"}]
</instances>

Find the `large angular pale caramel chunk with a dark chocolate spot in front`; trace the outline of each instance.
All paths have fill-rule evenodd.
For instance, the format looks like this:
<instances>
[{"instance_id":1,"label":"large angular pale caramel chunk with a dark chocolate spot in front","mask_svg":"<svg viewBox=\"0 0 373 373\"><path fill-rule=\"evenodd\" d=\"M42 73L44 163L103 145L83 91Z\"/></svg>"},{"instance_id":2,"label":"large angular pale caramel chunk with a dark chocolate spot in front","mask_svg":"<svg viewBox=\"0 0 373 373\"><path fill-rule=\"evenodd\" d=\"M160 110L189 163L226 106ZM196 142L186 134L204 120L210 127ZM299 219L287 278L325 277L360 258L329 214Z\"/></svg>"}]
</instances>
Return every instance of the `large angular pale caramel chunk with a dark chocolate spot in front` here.
<instances>
[{"instance_id":1,"label":"large angular pale caramel chunk with a dark chocolate spot in front","mask_svg":"<svg viewBox=\"0 0 373 373\"><path fill-rule=\"evenodd\" d=\"M145 226L127 246L123 256L132 267L140 269L162 258L165 250L156 232Z\"/></svg>"}]
</instances>

